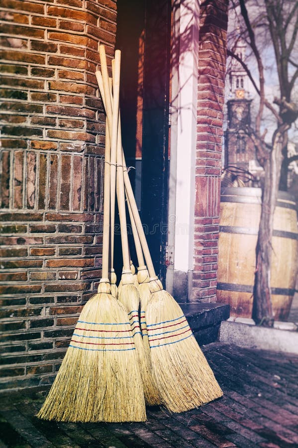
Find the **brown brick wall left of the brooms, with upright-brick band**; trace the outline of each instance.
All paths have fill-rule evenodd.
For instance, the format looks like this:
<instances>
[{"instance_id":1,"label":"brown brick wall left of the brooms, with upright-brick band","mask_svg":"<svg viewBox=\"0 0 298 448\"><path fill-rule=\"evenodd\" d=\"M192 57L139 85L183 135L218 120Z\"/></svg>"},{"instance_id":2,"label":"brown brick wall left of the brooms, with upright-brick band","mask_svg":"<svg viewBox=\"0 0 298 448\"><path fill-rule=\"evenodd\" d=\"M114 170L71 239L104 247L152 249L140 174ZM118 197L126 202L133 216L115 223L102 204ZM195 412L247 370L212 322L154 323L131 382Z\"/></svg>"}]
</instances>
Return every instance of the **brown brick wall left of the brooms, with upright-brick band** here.
<instances>
[{"instance_id":1,"label":"brown brick wall left of the brooms, with upright-brick band","mask_svg":"<svg viewBox=\"0 0 298 448\"><path fill-rule=\"evenodd\" d=\"M0 20L0 383L11 388L53 380L100 277L94 73L99 43L113 54L116 2L2 0Z\"/></svg>"}]
</instances>

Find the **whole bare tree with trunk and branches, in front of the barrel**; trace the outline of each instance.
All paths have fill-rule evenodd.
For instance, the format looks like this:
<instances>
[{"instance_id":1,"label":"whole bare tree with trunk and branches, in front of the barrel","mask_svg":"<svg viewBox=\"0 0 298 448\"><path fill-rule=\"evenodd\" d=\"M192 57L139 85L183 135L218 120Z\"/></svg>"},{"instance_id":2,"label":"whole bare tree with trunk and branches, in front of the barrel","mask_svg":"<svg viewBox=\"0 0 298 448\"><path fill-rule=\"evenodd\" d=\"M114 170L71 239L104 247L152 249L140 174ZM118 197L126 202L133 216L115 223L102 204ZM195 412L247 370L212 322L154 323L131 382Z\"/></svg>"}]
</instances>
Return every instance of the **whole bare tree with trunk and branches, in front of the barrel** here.
<instances>
[{"instance_id":1,"label":"whole bare tree with trunk and branches, in front of the barrel","mask_svg":"<svg viewBox=\"0 0 298 448\"><path fill-rule=\"evenodd\" d=\"M254 128L246 132L252 139L259 163L264 168L261 220L256 247L256 272L254 285L253 318L256 323L273 325L270 293L273 216L279 186L286 189L288 165L296 156L288 158L288 130L298 117L298 104L294 98L298 78L298 2L293 0L232 0L239 11L242 37L248 43L257 69L251 70L234 52L235 58L247 72L258 96L259 105ZM273 100L265 93L264 50L270 42L274 65L278 76L279 92ZM255 74L256 73L256 74ZM267 130L262 123L265 111L275 120L271 141L266 139ZM297 156L298 159L298 156Z\"/></svg>"}]
</instances>

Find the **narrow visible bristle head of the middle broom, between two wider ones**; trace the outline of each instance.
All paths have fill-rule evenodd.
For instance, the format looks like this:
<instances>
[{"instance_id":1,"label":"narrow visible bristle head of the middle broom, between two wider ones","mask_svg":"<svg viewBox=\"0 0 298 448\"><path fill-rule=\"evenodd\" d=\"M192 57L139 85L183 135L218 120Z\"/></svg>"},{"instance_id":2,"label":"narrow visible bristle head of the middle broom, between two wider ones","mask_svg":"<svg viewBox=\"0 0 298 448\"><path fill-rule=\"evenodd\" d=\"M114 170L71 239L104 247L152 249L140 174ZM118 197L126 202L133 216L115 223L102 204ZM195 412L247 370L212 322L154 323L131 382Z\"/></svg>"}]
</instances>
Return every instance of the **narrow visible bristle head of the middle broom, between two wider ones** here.
<instances>
[{"instance_id":1,"label":"narrow visible bristle head of the middle broom, between two wider ones","mask_svg":"<svg viewBox=\"0 0 298 448\"><path fill-rule=\"evenodd\" d=\"M152 376L152 366L149 351L145 349L139 322L139 294L133 284L131 273L122 274L122 287L118 289L118 300L125 307L133 333L133 339L138 355L140 372L143 381L143 390L145 401L149 405L156 405L160 403L159 394L156 383ZM147 338L146 338L147 339Z\"/></svg>"}]
</instances>

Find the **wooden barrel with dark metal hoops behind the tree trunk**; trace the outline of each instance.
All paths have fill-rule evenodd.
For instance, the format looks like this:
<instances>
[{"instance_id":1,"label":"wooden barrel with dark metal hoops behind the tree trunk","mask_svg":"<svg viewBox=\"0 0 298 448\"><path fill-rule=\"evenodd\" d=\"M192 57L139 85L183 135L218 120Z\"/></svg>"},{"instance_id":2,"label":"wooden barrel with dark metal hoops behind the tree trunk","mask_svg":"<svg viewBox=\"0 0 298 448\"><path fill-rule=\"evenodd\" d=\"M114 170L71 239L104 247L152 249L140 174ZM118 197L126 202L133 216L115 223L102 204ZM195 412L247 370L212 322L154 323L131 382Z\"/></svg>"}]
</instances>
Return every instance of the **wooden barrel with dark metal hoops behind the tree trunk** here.
<instances>
[{"instance_id":1,"label":"wooden barrel with dark metal hoops behind the tree trunk","mask_svg":"<svg viewBox=\"0 0 298 448\"><path fill-rule=\"evenodd\" d=\"M217 301L231 316L252 317L256 244L261 216L260 188L221 191ZM276 320L287 320L298 271L295 199L279 192L272 238L271 294Z\"/></svg>"}]
</instances>

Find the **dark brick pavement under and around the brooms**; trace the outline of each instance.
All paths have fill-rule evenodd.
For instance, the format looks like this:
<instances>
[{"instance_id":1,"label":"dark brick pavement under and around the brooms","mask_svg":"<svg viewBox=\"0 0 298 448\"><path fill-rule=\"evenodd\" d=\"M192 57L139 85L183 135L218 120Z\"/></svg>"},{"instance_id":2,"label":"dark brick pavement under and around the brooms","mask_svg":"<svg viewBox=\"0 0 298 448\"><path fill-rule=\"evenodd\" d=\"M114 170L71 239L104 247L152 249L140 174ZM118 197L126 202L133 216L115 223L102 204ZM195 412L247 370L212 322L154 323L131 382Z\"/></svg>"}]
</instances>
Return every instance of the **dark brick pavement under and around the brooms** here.
<instances>
[{"instance_id":1,"label":"dark brick pavement under and around the brooms","mask_svg":"<svg viewBox=\"0 0 298 448\"><path fill-rule=\"evenodd\" d=\"M145 423L38 420L47 390L1 396L1 447L298 447L298 356L214 342L203 347L224 396L198 410L147 410Z\"/></svg>"}]
</instances>

